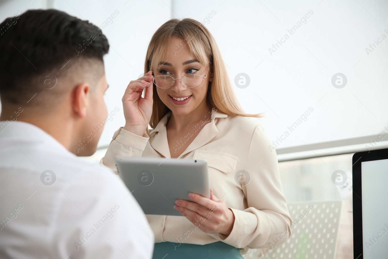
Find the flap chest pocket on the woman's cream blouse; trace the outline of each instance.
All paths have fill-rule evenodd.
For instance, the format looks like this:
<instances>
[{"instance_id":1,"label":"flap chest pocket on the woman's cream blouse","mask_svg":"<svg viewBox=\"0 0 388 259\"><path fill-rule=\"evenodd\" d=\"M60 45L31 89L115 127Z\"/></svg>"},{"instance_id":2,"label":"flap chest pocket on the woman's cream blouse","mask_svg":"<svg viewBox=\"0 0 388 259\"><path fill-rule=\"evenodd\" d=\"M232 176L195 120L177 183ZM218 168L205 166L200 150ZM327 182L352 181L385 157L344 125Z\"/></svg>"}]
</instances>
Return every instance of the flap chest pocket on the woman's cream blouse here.
<instances>
[{"instance_id":1,"label":"flap chest pocket on the woman's cream blouse","mask_svg":"<svg viewBox=\"0 0 388 259\"><path fill-rule=\"evenodd\" d=\"M236 170L238 158L228 153L196 150L193 159L208 161L208 167L230 174Z\"/></svg>"}]
</instances>

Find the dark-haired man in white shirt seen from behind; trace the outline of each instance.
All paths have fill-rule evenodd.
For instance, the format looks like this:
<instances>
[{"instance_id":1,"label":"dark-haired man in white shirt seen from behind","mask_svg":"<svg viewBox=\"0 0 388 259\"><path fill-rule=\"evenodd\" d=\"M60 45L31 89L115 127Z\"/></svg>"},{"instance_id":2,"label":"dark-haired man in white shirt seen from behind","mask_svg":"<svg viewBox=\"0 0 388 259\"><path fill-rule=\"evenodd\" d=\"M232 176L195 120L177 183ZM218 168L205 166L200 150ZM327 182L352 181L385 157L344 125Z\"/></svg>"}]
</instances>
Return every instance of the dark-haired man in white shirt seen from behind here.
<instances>
[{"instance_id":1,"label":"dark-haired man in white shirt seen from behind","mask_svg":"<svg viewBox=\"0 0 388 259\"><path fill-rule=\"evenodd\" d=\"M139 204L92 155L109 50L97 26L28 10L0 28L0 257L151 258Z\"/></svg>"}]
</instances>

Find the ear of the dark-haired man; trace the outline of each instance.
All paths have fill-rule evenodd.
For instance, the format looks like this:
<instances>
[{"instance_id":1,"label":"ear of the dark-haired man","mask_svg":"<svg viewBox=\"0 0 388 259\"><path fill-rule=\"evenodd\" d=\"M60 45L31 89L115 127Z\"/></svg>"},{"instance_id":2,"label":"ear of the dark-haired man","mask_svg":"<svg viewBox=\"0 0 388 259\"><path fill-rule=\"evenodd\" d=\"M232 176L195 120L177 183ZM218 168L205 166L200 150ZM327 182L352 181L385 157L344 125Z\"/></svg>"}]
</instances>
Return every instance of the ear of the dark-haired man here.
<instances>
[{"instance_id":1,"label":"ear of the dark-haired man","mask_svg":"<svg viewBox=\"0 0 388 259\"><path fill-rule=\"evenodd\" d=\"M87 107L89 104L90 85L88 83L80 83L71 91L73 104L73 112L79 118L86 118Z\"/></svg>"}]
</instances>

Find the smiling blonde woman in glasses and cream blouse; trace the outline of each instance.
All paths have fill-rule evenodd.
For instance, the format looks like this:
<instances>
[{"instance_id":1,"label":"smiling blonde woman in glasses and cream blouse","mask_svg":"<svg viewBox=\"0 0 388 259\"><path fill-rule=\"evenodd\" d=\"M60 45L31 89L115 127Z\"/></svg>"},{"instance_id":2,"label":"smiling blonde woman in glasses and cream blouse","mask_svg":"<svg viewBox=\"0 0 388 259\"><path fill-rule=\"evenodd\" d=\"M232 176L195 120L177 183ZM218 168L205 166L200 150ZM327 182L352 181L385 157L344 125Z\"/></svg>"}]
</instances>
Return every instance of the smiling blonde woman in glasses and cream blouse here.
<instances>
[{"instance_id":1,"label":"smiling blonde woman in glasses and cream blouse","mask_svg":"<svg viewBox=\"0 0 388 259\"><path fill-rule=\"evenodd\" d=\"M210 199L190 193L176 201L184 217L146 215L153 258L242 258L284 242L292 220L276 152L249 118L261 115L242 111L210 32L193 19L167 21L149 43L144 71L125 90L126 123L101 163L117 173L116 155L204 159L211 188Z\"/></svg>"}]
</instances>

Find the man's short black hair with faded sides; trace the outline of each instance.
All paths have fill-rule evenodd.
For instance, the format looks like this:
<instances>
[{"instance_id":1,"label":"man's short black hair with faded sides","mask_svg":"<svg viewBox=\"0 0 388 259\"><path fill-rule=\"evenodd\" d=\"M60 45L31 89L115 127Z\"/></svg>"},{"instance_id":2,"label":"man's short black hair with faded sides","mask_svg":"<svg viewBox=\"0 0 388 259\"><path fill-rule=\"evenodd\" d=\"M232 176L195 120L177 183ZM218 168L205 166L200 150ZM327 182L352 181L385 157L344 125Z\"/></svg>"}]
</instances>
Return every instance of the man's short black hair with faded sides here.
<instances>
[{"instance_id":1,"label":"man's short black hair with faded sides","mask_svg":"<svg viewBox=\"0 0 388 259\"><path fill-rule=\"evenodd\" d=\"M11 19L5 19L0 28ZM103 64L109 44L89 21L55 9L39 9L26 11L0 36L0 49L1 99L3 103L27 105L33 94L50 91L47 89L55 78L49 79L53 82L48 87L47 76L54 74L57 78L77 64L85 68L84 61L99 60Z\"/></svg>"}]
</instances>

